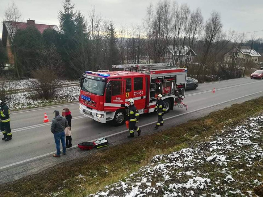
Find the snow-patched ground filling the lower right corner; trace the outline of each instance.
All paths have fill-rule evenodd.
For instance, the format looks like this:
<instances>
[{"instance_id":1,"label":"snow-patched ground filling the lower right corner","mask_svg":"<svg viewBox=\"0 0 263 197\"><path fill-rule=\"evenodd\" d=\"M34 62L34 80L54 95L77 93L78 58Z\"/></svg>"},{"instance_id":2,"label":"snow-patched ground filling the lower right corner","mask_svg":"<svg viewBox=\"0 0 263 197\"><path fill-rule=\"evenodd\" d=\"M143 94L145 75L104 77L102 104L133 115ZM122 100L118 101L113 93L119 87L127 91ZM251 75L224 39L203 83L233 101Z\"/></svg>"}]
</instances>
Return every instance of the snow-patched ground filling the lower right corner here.
<instances>
[{"instance_id":1,"label":"snow-patched ground filling the lower right corner","mask_svg":"<svg viewBox=\"0 0 263 197\"><path fill-rule=\"evenodd\" d=\"M263 177L255 173L263 163L262 128L263 115L197 146L156 155L126 181L90 196L255 196L253 187L261 185ZM129 185L128 181L152 182L148 183L152 186Z\"/></svg>"}]
</instances>

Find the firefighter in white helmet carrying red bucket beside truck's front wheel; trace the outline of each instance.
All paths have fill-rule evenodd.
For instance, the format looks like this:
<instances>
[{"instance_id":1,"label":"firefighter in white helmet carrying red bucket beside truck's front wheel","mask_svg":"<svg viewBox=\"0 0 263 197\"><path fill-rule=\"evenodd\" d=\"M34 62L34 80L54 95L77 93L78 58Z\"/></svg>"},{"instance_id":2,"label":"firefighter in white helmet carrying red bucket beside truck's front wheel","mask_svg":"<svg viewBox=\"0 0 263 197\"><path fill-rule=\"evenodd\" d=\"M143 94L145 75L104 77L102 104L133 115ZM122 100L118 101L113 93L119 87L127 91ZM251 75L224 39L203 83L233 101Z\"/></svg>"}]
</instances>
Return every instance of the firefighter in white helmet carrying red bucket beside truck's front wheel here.
<instances>
[{"instance_id":1,"label":"firefighter in white helmet carrying red bucket beside truck's front wheel","mask_svg":"<svg viewBox=\"0 0 263 197\"><path fill-rule=\"evenodd\" d=\"M130 135L127 137L133 137L134 136L134 130L138 132L138 136L141 134L141 129L136 126L136 122L139 122L139 111L134 106L133 99L128 100L128 120L129 120L129 131Z\"/></svg>"}]
</instances>

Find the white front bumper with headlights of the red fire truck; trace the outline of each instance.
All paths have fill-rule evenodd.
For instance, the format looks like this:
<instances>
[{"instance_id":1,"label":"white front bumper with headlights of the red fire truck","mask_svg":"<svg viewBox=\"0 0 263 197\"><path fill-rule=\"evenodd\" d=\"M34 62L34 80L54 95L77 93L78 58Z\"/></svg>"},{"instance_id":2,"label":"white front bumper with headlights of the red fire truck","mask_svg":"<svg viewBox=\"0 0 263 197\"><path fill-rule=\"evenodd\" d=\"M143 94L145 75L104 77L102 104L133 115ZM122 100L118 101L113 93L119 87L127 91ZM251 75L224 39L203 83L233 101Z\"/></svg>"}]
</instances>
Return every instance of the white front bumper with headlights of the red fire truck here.
<instances>
[{"instance_id":1,"label":"white front bumper with headlights of the red fire truck","mask_svg":"<svg viewBox=\"0 0 263 197\"><path fill-rule=\"evenodd\" d=\"M103 111L89 109L85 105L79 104L79 112L95 121L106 123L106 113Z\"/></svg>"}]
</instances>

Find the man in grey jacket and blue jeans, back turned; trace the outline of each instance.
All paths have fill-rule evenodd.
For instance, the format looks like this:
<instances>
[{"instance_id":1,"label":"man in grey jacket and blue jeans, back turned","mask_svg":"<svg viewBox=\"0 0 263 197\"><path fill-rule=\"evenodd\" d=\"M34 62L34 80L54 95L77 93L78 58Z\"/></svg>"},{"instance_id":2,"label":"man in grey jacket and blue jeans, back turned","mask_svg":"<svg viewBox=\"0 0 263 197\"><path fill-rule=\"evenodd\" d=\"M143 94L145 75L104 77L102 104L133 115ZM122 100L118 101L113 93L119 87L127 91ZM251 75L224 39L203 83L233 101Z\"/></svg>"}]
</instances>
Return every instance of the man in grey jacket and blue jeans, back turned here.
<instances>
[{"instance_id":1,"label":"man in grey jacket and blue jeans, back turned","mask_svg":"<svg viewBox=\"0 0 263 197\"><path fill-rule=\"evenodd\" d=\"M60 141L62 143L63 154L66 154L65 128L69 126L69 124L65 117L59 115L59 111L55 110L53 113L55 113L55 118L52 120L50 129L54 134L56 143L56 154L53 154L53 157L60 157Z\"/></svg>"}]
</instances>

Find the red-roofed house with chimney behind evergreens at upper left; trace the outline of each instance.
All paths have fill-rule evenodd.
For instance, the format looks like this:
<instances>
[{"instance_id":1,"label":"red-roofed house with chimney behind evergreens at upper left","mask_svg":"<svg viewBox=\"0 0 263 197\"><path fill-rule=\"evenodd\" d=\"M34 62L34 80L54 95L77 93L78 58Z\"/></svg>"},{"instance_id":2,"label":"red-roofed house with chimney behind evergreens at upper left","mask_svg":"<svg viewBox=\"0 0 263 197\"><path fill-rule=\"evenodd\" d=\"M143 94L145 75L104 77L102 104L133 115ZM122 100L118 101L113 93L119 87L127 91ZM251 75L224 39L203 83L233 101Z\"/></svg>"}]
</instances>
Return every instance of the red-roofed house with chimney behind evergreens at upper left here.
<instances>
[{"instance_id":1,"label":"red-roofed house with chimney behind evergreens at upper left","mask_svg":"<svg viewBox=\"0 0 263 197\"><path fill-rule=\"evenodd\" d=\"M14 57L11 50L10 40L13 39L16 31L18 29L26 29L28 26L35 26L38 31L42 34L46 29L53 29L59 31L56 25L46 25L35 23L34 20L28 19L26 23L24 22L14 22L14 21L4 21L3 31L2 31L2 43L7 49L8 59L10 64L14 64Z\"/></svg>"}]
</instances>

